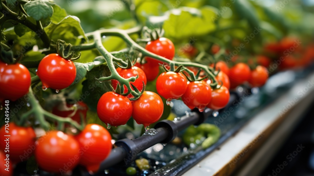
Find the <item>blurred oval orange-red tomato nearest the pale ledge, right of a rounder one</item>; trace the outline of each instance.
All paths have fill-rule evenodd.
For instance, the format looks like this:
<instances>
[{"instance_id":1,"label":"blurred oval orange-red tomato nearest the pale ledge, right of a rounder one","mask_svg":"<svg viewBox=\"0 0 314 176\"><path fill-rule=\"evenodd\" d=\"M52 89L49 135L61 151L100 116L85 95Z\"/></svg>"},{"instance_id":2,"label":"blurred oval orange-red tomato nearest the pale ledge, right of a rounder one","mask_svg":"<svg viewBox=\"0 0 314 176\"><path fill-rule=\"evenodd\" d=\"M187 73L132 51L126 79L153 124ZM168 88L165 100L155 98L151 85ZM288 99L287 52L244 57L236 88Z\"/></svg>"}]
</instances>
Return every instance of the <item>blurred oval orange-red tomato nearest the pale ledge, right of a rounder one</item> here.
<instances>
[{"instance_id":1,"label":"blurred oval orange-red tomato nearest the pale ledge, right of a rounder one","mask_svg":"<svg viewBox=\"0 0 314 176\"><path fill-rule=\"evenodd\" d=\"M264 66L258 65L252 70L249 83L252 87L260 87L266 83L267 79L268 70Z\"/></svg>"}]
</instances>

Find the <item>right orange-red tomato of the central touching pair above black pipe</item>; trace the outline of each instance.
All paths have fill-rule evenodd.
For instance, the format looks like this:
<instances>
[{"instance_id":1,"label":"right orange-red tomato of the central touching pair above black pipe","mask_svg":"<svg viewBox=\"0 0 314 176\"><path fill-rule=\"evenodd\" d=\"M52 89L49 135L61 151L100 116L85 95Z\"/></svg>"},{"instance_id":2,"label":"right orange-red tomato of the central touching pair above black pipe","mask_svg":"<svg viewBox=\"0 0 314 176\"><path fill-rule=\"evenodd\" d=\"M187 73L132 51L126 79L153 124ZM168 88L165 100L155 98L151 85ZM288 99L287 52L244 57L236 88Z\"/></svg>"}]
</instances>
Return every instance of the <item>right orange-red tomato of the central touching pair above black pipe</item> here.
<instances>
[{"instance_id":1,"label":"right orange-red tomato of the central touching pair above black pipe","mask_svg":"<svg viewBox=\"0 0 314 176\"><path fill-rule=\"evenodd\" d=\"M149 126L157 122L164 111L160 96L151 91L144 91L139 99L133 102L132 117L138 124Z\"/></svg>"}]
</instances>

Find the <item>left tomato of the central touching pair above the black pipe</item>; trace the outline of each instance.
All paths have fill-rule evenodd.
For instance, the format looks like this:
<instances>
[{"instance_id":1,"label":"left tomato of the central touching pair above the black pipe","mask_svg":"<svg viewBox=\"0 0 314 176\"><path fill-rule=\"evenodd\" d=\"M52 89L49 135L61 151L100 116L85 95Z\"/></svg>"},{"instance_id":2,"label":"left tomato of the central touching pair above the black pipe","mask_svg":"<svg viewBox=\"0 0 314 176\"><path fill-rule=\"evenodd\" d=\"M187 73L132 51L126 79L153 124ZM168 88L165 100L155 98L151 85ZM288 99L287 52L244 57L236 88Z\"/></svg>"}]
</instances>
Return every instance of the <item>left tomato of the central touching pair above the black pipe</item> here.
<instances>
[{"instance_id":1,"label":"left tomato of the central touching pair above the black pipe","mask_svg":"<svg viewBox=\"0 0 314 176\"><path fill-rule=\"evenodd\" d=\"M97 104L97 114L101 121L111 126L124 125L131 118L132 103L115 92L103 94Z\"/></svg>"}]
</instances>

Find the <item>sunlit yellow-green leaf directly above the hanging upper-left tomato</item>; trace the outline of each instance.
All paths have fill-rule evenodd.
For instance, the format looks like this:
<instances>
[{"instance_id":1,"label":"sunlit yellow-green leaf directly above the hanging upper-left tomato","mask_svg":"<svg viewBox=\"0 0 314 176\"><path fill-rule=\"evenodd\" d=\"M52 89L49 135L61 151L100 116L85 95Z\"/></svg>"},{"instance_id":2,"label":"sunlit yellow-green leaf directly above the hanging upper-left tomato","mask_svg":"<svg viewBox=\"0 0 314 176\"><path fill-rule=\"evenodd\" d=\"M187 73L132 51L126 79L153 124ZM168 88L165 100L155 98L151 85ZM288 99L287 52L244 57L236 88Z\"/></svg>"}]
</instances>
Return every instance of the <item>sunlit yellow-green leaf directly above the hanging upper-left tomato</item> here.
<instances>
[{"instance_id":1,"label":"sunlit yellow-green leaf directly above the hanging upper-left tomato","mask_svg":"<svg viewBox=\"0 0 314 176\"><path fill-rule=\"evenodd\" d=\"M50 24L45 28L45 31L51 40L57 41L58 39L78 45L80 40L78 36L83 36L86 40L84 30L80 25L80 20L76 16L67 16L57 24Z\"/></svg>"}]
</instances>

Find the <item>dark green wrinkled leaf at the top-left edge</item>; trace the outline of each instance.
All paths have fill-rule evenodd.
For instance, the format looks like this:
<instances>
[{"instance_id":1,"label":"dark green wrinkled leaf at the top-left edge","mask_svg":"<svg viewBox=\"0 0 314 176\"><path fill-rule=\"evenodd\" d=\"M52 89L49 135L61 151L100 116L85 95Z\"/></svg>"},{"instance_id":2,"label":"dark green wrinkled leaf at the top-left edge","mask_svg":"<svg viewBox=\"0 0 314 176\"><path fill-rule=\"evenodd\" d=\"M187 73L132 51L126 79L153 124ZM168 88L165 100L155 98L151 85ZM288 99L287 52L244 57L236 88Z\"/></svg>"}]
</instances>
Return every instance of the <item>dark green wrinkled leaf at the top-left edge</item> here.
<instances>
[{"instance_id":1,"label":"dark green wrinkled leaf at the top-left edge","mask_svg":"<svg viewBox=\"0 0 314 176\"><path fill-rule=\"evenodd\" d=\"M24 9L30 17L39 21L52 16L53 9L51 5L54 5L54 3L49 0L34 0L27 2Z\"/></svg>"}]
</instances>

